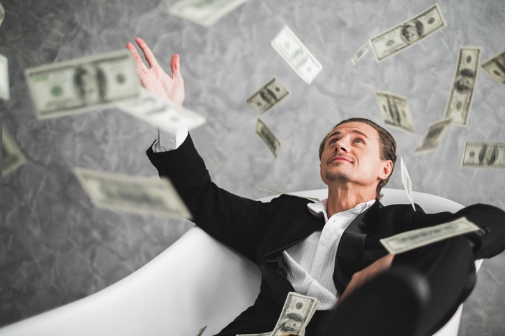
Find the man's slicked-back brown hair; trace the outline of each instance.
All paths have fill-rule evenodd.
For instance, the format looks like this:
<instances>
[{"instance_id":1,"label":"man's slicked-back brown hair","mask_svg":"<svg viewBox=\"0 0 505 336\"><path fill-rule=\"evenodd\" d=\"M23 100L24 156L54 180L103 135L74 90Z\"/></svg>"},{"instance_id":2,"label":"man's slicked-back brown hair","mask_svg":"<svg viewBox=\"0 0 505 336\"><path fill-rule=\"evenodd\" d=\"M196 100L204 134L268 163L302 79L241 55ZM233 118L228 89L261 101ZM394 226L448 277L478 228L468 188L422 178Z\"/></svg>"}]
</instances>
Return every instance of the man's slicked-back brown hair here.
<instances>
[{"instance_id":1,"label":"man's slicked-back brown hair","mask_svg":"<svg viewBox=\"0 0 505 336\"><path fill-rule=\"evenodd\" d=\"M331 127L330 131L324 139L321 141L321 145L319 145L319 160L321 160L323 150L324 150L324 144L326 143L326 140L328 140L328 136L331 134L331 131L335 129L335 127L340 126L342 124L347 124L347 122L361 122L363 124L369 125L373 127L379 133L379 157L381 160L391 160L393 162L393 168L391 168L391 173L389 174L388 177L385 179L381 179L379 184L377 184L377 189L375 191L375 198L377 200L380 200L382 198L381 194L381 189L389 182L389 177L391 177L391 174L393 174L393 170L395 169L395 164L396 164L396 141L395 138L387 131L384 129L384 127L381 127L377 125L375 122L372 122L372 120L368 120L365 118L349 118L346 120L342 120L338 124L334 125Z\"/></svg>"}]
</instances>

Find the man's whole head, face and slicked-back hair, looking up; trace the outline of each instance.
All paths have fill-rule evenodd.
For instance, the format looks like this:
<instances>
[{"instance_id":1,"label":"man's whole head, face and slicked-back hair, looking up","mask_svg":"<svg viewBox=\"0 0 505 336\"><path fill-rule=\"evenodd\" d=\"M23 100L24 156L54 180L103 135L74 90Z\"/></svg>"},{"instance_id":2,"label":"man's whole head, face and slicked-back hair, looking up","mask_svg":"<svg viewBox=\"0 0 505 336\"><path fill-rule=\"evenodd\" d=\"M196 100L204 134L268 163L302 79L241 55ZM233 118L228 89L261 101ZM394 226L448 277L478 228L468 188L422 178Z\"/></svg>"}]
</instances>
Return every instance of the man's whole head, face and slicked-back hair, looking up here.
<instances>
[{"instance_id":1,"label":"man's whole head, face and slicked-back hair, looking up","mask_svg":"<svg viewBox=\"0 0 505 336\"><path fill-rule=\"evenodd\" d=\"M380 199L395 168L396 142L375 122L350 118L333 126L323 138L319 160L324 183L376 183L375 197Z\"/></svg>"}]
</instances>

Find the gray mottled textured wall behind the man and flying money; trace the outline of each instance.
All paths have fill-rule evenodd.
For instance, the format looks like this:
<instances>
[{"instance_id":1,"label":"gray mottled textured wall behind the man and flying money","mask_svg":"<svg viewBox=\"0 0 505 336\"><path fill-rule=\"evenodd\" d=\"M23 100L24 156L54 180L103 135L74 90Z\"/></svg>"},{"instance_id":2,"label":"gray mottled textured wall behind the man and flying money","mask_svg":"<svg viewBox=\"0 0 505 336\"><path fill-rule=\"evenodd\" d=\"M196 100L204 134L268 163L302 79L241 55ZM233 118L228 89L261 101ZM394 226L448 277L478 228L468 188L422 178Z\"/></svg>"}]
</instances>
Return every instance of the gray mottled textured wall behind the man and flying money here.
<instances>
[{"instance_id":1,"label":"gray mottled textured wall behind the man and flying money","mask_svg":"<svg viewBox=\"0 0 505 336\"><path fill-rule=\"evenodd\" d=\"M187 221L97 209L71 169L155 175L144 155L156 128L117 109L38 121L23 70L124 48L140 36L169 70L181 55L185 106L205 115L192 132L215 182L240 195L324 187L317 146L334 123L363 116L382 124L373 90L405 95L416 134L391 130L413 189L462 205L505 208L505 172L460 168L467 140L505 141L505 87L480 71L466 128L451 127L436 152L414 157L426 127L442 118L457 51L481 46L482 60L504 49L502 0L440 0L449 24L384 63L349 59L372 35L433 0L250 0L207 29L168 14L165 0L1 0L0 54L9 61L3 123L27 163L2 180L0 325L75 301L111 285L167 248ZM288 25L324 69L309 86L270 45ZM246 98L276 75L292 95L262 119L282 141L280 155L255 134ZM394 173L389 187L401 189ZM505 335L505 254L484 263L465 305L460 335Z\"/></svg>"}]
</instances>

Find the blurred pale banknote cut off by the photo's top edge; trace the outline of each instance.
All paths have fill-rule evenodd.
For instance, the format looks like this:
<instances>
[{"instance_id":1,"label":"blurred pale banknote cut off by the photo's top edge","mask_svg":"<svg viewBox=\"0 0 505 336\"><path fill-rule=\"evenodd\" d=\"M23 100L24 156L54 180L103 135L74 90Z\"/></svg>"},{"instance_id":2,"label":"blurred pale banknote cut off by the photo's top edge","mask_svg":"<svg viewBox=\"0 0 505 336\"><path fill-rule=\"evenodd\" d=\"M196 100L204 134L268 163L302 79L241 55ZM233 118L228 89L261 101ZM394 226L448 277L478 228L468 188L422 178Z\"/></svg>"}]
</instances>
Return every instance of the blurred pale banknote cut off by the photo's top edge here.
<instances>
[{"instance_id":1,"label":"blurred pale banknote cut off by the photo's top edge","mask_svg":"<svg viewBox=\"0 0 505 336\"><path fill-rule=\"evenodd\" d=\"M169 13L202 26L212 26L247 0L182 0L169 8Z\"/></svg>"}]
</instances>

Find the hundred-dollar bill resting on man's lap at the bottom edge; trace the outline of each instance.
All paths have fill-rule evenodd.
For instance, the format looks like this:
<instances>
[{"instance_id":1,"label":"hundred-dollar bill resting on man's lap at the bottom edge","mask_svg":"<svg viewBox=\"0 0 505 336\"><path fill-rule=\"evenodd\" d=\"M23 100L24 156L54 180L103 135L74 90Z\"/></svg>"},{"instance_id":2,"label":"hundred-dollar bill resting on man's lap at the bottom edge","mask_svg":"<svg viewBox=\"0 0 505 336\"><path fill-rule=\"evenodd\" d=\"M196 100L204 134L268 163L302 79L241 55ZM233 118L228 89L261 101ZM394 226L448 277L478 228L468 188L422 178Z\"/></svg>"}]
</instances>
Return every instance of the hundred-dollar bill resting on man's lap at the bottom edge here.
<instances>
[{"instance_id":1,"label":"hundred-dollar bill resting on man's lap at the bottom edge","mask_svg":"<svg viewBox=\"0 0 505 336\"><path fill-rule=\"evenodd\" d=\"M317 305L319 305L317 298L290 291L271 335L280 336L284 333L300 335L314 315Z\"/></svg>"}]
</instances>

